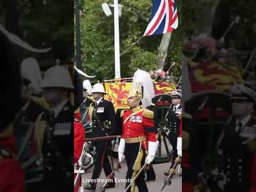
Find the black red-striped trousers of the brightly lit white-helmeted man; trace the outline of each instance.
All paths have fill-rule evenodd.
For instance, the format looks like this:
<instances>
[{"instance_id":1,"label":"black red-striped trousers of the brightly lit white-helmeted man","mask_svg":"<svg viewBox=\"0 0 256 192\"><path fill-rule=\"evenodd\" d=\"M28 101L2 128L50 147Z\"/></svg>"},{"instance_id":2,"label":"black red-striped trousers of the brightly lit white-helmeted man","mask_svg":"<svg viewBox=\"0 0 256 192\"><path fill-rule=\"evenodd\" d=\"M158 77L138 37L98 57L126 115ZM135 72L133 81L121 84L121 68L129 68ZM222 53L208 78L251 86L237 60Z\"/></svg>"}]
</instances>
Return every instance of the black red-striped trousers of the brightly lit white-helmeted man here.
<instances>
[{"instance_id":1,"label":"black red-striped trousers of the brightly lit white-helmeted man","mask_svg":"<svg viewBox=\"0 0 256 192\"><path fill-rule=\"evenodd\" d=\"M94 162L94 169L92 173L92 179L98 179L100 177L102 168L105 172L106 177L112 172L112 168L108 159L107 149L109 147L109 142L94 142L96 147L96 159ZM91 183L92 185L97 185L97 183Z\"/></svg>"}]
</instances>

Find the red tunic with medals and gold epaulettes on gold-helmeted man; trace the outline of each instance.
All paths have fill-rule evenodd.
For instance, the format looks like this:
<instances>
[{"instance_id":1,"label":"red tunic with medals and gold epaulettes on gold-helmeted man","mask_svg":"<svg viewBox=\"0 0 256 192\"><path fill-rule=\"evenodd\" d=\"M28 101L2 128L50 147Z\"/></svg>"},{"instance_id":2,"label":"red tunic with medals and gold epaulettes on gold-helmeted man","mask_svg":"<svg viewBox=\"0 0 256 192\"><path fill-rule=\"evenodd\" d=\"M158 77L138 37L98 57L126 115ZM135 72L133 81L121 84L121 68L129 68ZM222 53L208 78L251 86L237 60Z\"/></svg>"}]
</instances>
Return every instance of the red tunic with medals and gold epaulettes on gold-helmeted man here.
<instances>
[{"instance_id":1,"label":"red tunic with medals and gold epaulettes on gold-helmeted man","mask_svg":"<svg viewBox=\"0 0 256 192\"><path fill-rule=\"evenodd\" d=\"M133 109L133 111L124 111L122 138L125 139L146 136L147 141L156 142L153 117L153 111L141 109L140 106Z\"/></svg>"}]
</instances>

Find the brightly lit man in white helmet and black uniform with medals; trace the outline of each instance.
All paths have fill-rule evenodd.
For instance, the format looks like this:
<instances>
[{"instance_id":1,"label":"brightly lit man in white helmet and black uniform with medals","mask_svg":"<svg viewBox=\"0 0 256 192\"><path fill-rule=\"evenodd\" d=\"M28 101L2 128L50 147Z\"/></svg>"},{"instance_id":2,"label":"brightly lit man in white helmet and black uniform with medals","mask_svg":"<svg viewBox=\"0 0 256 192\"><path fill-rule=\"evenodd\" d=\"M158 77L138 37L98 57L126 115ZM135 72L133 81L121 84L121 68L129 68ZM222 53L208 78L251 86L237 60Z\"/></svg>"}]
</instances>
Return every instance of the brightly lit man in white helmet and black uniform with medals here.
<instances>
[{"instance_id":1,"label":"brightly lit man in white helmet and black uniform with medals","mask_svg":"<svg viewBox=\"0 0 256 192\"><path fill-rule=\"evenodd\" d=\"M116 133L116 116L113 103L103 98L103 95L107 94L101 83L97 83L92 88L92 97L95 100L90 105L89 115L93 123L93 137L105 137L107 135L113 135ZM107 129L105 122L110 122L111 128ZM107 149L110 147L110 143L107 141L98 141L93 143L96 147L97 157L94 163L94 169L92 173L92 179L98 179L100 177L102 168L105 174L108 176L112 172L112 168L108 159ZM111 178L112 179L112 178ZM84 189L95 190L97 182L90 182ZM114 179L107 183L106 188L115 187Z\"/></svg>"}]
</instances>

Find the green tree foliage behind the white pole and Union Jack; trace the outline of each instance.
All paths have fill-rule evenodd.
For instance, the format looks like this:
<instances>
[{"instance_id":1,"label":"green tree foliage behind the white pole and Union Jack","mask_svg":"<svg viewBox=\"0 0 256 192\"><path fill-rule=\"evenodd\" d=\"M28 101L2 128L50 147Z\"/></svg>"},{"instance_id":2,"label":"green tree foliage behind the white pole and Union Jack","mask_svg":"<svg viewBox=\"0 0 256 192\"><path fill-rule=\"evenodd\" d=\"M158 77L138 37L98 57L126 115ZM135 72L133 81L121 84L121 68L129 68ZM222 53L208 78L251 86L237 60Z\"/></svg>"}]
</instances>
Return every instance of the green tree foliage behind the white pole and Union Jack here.
<instances>
[{"instance_id":1,"label":"green tree foliage behind the white pole and Union Jack","mask_svg":"<svg viewBox=\"0 0 256 192\"><path fill-rule=\"evenodd\" d=\"M81 18L82 66L87 74L97 75L97 79L112 79L115 76L114 66L114 19L106 17L101 9L102 3L113 4L109 1L81 1L84 9ZM169 47L167 70L173 62L177 63L170 70L173 76L181 75L181 1L178 2L179 27L174 30ZM150 0L124 0L122 17L119 18L120 53L123 53L135 43L144 33L153 6ZM114 13L113 8L111 11ZM131 77L137 68L156 70L158 46L162 35L143 37L129 51L124 53L121 60L121 77ZM76 39L76 38L75 38Z\"/></svg>"}]
</instances>

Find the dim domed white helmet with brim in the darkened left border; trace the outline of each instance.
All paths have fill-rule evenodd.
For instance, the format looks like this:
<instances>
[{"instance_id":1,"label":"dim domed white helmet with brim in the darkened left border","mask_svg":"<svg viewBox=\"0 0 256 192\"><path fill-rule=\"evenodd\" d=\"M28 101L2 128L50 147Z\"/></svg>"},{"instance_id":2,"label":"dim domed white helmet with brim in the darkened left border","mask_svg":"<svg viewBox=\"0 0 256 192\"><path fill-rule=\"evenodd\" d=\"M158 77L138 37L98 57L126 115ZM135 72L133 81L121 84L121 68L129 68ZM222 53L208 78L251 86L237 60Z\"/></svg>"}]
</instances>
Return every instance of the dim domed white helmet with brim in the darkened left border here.
<instances>
[{"instance_id":1,"label":"dim domed white helmet with brim in the darkened left border","mask_svg":"<svg viewBox=\"0 0 256 192\"><path fill-rule=\"evenodd\" d=\"M74 89L68 70L62 66L54 66L45 72L41 88Z\"/></svg>"}]
</instances>

